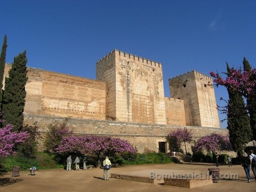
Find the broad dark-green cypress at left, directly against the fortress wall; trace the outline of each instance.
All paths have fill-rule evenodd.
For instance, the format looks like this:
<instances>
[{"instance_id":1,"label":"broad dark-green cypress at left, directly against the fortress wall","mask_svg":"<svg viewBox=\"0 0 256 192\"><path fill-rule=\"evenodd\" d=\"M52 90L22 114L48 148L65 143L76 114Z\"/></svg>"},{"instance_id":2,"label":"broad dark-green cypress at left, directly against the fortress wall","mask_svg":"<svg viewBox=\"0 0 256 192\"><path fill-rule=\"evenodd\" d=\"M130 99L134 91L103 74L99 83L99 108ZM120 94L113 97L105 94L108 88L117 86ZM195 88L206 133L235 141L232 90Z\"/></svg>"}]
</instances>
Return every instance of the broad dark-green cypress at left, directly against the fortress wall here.
<instances>
[{"instance_id":1,"label":"broad dark-green cypress at left, directly against the fortress wall","mask_svg":"<svg viewBox=\"0 0 256 192\"><path fill-rule=\"evenodd\" d=\"M26 71L26 51L14 57L9 77L5 78L3 94L3 119L5 124L13 124L14 130L20 131L23 125L25 106L25 84L28 80Z\"/></svg>"}]
</instances>

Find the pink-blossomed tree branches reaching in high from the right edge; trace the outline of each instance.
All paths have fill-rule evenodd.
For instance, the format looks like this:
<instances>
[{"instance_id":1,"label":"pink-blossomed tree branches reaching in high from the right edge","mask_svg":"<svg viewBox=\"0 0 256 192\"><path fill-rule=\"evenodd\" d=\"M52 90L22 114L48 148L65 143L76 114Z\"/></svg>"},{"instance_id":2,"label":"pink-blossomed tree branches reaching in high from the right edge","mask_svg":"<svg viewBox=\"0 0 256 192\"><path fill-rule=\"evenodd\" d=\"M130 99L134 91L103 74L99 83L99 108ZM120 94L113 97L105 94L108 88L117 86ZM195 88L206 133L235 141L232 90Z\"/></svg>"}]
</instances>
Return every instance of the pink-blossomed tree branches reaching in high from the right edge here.
<instances>
[{"instance_id":1,"label":"pink-blossomed tree branches reaching in high from the right edge","mask_svg":"<svg viewBox=\"0 0 256 192\"><path fill-rule=\"evenodd\" d=\"M228 64L227 64L228 66ZM228 66L229 68L229 66ZM240 93L247 101L247 110L250 116L250 127L254 140L256 140L256 69L252 69L246 58L243 59L243 70L229 68L227 77L223 78L218 73L210 72L214 77L213 82L218 85L225 86L229 93ZM224 100L221 98L221 100ZM244 115L243 110L235 106L234 102L230 102L230 98L226 101L227 105L224 107L218 106L222 113L227 114L227 120L233 121L233 116ZM242 106L241 106L242 107Z\"/></svg>"}]
</instances>

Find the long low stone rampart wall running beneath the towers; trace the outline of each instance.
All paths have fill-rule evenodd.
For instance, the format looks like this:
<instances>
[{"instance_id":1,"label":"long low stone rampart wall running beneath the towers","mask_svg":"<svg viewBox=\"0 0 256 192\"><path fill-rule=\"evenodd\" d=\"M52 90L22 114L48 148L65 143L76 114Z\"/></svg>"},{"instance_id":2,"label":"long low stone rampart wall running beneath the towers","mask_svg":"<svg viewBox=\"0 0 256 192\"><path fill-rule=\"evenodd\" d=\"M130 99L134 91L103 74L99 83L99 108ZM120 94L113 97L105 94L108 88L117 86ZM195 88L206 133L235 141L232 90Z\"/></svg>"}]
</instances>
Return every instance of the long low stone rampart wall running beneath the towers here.
<instances>
[{"instance_id":1,"label":"long low stone rampart wall running beneath the towers","mask_svg":"<svg viewBox=\"0 0 256 192\"><path fill-rule=\"evenodd\" d=\"M34 121L39 123L41 134L47 134L47 125L54 121L62 121L64 117L50 115L24 115L24 124L32 124ZM138 152L143 153L145 150L159 151L158 142L165 142L165 137L172 130L186 127L194 133L194 139L213 132L226 135L227 131L219 128L196 127L196 126L175 126L168 124L150 124L150 123L128 123L106 120L93 120L71 118L68 127L78 135L101 135L122 138L130 141L136 146ZM166 147L166 152L168 151ZM190 151L190 149L188 149Z\"/></svg>"}]
</instances>

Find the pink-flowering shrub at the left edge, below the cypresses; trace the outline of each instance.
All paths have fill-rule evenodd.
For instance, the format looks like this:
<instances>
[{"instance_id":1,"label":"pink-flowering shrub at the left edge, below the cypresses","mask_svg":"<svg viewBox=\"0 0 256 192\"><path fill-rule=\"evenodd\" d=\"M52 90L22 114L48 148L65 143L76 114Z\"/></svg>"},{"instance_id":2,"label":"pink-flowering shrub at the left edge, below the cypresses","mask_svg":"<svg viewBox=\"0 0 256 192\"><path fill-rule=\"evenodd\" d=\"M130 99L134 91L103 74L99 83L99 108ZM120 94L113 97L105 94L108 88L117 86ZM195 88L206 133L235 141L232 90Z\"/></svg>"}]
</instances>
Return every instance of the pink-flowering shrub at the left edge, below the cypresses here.
<instances>
[{"instance_id":1,"label":"pink-flowering shrub at the left edge, below the cypresses","mask_svg":"<svg viewBox=\"0 0 256 192\"><path fill-rule=\"evenodd\" d=\"M27 131L25 132L11 132L13 125L8 124L6 127L0 129L0 157L15 154L14 146L17 143L23 143L29 138Z\"/></svg>"}]
</instances>

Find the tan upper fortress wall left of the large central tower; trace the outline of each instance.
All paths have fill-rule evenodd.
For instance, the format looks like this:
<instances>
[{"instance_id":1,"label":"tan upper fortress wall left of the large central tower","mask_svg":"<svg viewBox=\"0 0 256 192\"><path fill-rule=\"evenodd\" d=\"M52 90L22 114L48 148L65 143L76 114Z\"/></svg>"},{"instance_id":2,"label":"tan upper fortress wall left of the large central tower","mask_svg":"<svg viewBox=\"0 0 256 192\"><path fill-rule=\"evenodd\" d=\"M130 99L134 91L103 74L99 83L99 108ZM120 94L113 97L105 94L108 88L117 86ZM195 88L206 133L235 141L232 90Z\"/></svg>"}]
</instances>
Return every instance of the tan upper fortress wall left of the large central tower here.
<instances>
[{"instance_id":1,"label":"tan upper fortress wall left of the large central tower","mask_svg":"<svg viewBox=\"0 0 256 192\"><path fill-rule=\"evenodd\" d=\"M105 120L105 82L29 67L27 76L25 114Z\"/></svg>"}]
</instances>

